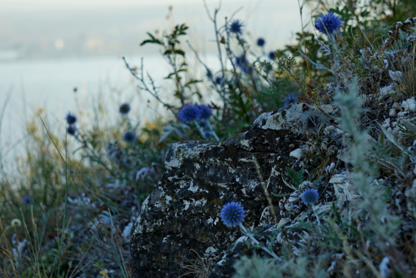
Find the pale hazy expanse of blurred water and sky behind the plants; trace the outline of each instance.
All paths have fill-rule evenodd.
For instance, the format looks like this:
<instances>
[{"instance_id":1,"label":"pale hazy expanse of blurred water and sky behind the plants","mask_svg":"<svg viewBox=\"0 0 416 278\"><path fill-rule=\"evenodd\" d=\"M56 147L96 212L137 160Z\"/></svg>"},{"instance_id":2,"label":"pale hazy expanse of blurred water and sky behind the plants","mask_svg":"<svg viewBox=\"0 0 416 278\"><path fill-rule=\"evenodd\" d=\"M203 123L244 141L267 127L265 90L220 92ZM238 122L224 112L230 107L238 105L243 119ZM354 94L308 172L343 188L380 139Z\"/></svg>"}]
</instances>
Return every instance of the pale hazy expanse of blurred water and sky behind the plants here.
<instances>
[{"instance_id":1,"label":"pale hazy expanse of blurred water and sky behind the plants","mask_svg":"<svg viewBox=\"0 0 416 278\"><path fill-rule=\"evenodd\" d=\"M169 117L147 92L137 90L138 82L121 57L125 55L135 66L143 57L145 71L161 86L162 97L169 102L171 83L163 80L169 72L166 61L159 48L140 48L139 43L146 38L146 31L186 22L190 26L190 43L213 71L219 69L213 27L202 1L180 2L172 1L170 11L166 3L111 9L0 11L0 109L11 94L0 132L6 160L24 156L24 141L20 140L25 136L28 119L38 111L44 111L41 115L61 134L65 134L64 117L68 111L81 110L86 121L93 116L99 100L108 112L103 121L114 120L122 102L132 104L132 116L141 123L157 115ZM208 6L212 12L216 1L208 0ZM254 51L260 51L254 45L257 37L265 38L268 52L293 42L293 34L300 30L297 1L224 0L219 22L223 23L224 17L240 6L243 8L234 18L244 21L245 35ZM204 76L205 70L196 59L191 55L188 58L196 77ZM206 97L207 101L218 101L217 96Z\"/></svg>"}]
</instances>

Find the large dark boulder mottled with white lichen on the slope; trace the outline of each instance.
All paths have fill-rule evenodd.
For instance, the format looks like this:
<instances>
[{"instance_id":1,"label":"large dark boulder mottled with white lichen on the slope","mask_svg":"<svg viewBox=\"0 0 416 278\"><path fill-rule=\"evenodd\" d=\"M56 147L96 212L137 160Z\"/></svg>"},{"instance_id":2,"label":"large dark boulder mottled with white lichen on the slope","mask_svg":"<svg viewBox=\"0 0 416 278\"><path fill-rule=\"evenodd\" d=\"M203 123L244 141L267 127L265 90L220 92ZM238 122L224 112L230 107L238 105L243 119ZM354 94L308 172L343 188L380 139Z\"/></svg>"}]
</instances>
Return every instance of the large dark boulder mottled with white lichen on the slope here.
<instances>
[{"instance_id":1,"label":"large dark boulder mottled with white lichen on the slope","mask_svg":"<svg viewBox=\"0 0 416 278\"><path fill-rule=\"evenodd\" d=\"M254 159L279 217L280 197L274 194L292 191L281 177L296 161L289 154L300 147L306 132L313 132L327 120L305 103L291 104L262 114L249 130L222 143L172 144L158 187L143 202L132 228L134 277L176 278L181 271L179 263L186 261L191 250L201 256L221 257L241 236L237 228L220 221L219 212L228 202L244 206L244 225L249 229L259 226L260 221L262 225L266 219L273 221L266 215L269 203Z\"/></svg>"}]
</instances>

